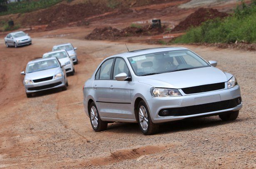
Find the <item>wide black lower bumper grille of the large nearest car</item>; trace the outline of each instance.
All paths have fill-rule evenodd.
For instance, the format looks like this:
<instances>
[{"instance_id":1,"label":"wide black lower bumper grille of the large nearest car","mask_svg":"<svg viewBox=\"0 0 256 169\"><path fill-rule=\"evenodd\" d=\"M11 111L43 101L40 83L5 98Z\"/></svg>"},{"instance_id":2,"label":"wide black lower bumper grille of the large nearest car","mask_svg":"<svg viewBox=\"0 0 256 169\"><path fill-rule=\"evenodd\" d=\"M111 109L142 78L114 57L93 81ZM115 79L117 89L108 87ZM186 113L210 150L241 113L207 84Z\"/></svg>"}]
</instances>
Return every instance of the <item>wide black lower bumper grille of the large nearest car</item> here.
<instances>
[{"instance_id":1,"label":"wide black lower bumper grille of the large nearest car","mask_svg":"<svg viewBox=\"0 0 256 169\"><path fill-rule=\"evenodd\" d=\"M218 101L214 103L199 104L195 106L162 109L159 111L158 114L159 116L188 116L193 114L207 113L211 111L231 109L239 104L241 104L241 97L231 100Z\"/></svg>"}]
</instances>

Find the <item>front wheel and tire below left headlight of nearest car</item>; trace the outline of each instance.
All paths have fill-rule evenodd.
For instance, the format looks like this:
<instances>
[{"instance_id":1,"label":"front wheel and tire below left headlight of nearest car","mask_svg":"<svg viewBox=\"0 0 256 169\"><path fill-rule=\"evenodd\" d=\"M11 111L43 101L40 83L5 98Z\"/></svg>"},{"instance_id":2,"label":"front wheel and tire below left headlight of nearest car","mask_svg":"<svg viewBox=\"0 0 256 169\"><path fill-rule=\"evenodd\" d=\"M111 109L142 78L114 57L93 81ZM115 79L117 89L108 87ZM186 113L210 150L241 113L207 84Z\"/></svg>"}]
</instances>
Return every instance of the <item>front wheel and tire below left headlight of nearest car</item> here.
<instances>
[{"instance_id":1,"label":"front wheel and tire below left headlight of nearest car","mask_svg":"<svg viewBox=\"0 0 256 169\"><path fill-rule=\"evenodd\" d=\"M152 122L146 103L142 100L137 107L139 128L144 135L157 133L159 125Z\"/></svg>"}]
</instances>

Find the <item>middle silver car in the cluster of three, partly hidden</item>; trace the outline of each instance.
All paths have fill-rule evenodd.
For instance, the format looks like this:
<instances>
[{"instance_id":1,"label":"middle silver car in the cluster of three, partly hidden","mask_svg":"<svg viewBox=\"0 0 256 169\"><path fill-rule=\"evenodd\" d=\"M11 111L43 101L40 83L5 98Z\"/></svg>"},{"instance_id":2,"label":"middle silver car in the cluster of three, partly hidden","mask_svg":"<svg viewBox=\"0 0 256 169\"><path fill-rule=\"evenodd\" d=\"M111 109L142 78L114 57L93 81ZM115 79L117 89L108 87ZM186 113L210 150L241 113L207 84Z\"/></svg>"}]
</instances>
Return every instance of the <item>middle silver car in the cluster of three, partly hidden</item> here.
<instances>
[{"instance_id":1,"label":"middle silver car in the cluster of three, partly hidden","mask_svg":"<svg viewBox=\"0 0 256 169\"><path fill-rule=\"evenodd\" d=\"M65 65L66 73L70 73L71 75L75 74L74 64L72 62L72 58L68 55L67 51L53 51L43 54L42 58L57 58L62 65Z\"/></svg>"}]
</instances>

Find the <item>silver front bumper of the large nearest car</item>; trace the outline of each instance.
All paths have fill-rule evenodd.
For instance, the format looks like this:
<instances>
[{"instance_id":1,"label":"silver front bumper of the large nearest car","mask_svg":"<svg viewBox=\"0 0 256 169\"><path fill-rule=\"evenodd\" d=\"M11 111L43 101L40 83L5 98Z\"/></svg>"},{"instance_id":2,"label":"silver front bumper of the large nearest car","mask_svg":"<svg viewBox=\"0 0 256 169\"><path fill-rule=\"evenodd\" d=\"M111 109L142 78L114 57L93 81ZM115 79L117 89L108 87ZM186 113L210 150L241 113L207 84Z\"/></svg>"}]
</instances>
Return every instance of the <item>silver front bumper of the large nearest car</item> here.
<instances>
[{"instance_id":1,"label":"silver front bumper of the large nearest car","mask_svg":"<svg viewBox=\"0 0 256 169\"><path fill-rule=\"evenodd\" d=\"M211 96L217 96L220 97L219 101L225 101L225 100L231 100L231 99L236 99L238 97L241 97L240 93L240 87L239 85L232 87L230 89L222 89L218 91L213 91L213 92L205 92L205 93L200 93L200 94L190 94L190 95L184 95L180 97L167 97L167 98L152 98L150 100L147 100L147 105L149 108L149 113L152 118L153 123L163 123L163 122L168 122L168 121L176 121L176 120L181 120L184 118L191 118L191 117L196 117L196 116L210 116L216 115L217 113L222 113L226 111L237 111L242 108L242 102L241 104L229 108L229 109L221 109L218 111L209 111L209 112L204 112L204 113L196 113L196 114L191 114L191 115L185 115L185 116L159 116L159 111L162 109L171 109L171 108L181 108L181 107L188 107L188 106L196 106L196 105L201 105L201 104L208 104L212 103L215 101L207 101L207 99L202 100L202 102L199 104L196 99L197 98L207 98ZM201 107L198 106L198 109ZM182 112L179 112L179 115L181 115ZM186 113L184 113L186 114Z\"/></svg>"}]
</instances>

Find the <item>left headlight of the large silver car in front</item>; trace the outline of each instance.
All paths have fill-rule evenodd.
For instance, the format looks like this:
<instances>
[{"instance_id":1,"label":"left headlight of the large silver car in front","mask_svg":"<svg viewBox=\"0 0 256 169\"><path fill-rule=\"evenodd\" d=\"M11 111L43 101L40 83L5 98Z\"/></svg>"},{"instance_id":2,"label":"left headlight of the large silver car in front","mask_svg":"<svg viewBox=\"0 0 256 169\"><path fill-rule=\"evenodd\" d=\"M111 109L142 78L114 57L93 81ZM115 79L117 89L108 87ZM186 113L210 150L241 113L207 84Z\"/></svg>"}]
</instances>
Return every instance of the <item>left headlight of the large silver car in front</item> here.
<instances>
[{"instance_id":1,"label":"left headlight of the large silver car in front","mask_svg":"<svg viewBox=\"0 0 256 169\"><path fill-rule=\"evenodd\" d=\"M151 88L151 95L153 97L169 97L169 96L182 96L178 89L164 89L164 88Z\"/></svg>"}]
</instances>

